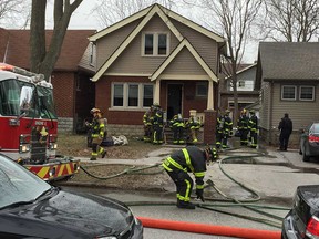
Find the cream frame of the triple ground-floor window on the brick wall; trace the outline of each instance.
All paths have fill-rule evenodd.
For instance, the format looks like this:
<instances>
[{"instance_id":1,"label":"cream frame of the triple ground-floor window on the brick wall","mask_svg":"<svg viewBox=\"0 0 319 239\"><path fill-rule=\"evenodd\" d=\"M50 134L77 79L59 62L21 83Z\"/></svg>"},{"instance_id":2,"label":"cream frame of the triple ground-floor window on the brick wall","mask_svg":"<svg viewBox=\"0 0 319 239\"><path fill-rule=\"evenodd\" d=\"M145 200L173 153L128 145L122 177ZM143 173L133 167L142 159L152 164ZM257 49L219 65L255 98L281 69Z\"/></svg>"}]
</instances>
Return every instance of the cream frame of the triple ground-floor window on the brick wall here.
<instances>
[{"instance_id":1,"label":"cream frame of the triple ground-floor window on the brick wall","mask_svg":"<svg viewBox=\"0 0 319 239\"><path fill-rule=\"evenodd\" d=\"M114 85L123 85L123 106L114 106ZM137 106L128 106L128 86L130 85L138 85L138 100ZM111 92L111 108L114 110L145 110L148 106L143 106L144 98L144 85L153 86L153 100L154 100L154 84L140 83L140 82L114 82L112 83L112 92Z\"/></svg>"}]
</instances>

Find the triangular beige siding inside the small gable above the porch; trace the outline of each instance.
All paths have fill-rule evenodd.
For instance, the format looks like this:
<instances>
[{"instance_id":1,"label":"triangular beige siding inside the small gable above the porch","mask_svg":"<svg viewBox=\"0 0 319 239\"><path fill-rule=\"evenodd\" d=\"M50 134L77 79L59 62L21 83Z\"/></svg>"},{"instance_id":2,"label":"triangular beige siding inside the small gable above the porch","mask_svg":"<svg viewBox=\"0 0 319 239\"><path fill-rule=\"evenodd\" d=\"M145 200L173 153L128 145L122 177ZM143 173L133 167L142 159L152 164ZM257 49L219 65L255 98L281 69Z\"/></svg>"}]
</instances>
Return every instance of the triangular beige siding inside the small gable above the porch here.
<instances>
[{"instance_id":1,"label":"triangular beige siding inside the small gable above the porch","mask_svg":"<svg viewBox=\"0 0 319 239\"><path fill-rule=\"evenodd\" d=\"M171 62L163 74L207 75L186 48L184 48L173 62Z\"/></svg>"}]
</instances>

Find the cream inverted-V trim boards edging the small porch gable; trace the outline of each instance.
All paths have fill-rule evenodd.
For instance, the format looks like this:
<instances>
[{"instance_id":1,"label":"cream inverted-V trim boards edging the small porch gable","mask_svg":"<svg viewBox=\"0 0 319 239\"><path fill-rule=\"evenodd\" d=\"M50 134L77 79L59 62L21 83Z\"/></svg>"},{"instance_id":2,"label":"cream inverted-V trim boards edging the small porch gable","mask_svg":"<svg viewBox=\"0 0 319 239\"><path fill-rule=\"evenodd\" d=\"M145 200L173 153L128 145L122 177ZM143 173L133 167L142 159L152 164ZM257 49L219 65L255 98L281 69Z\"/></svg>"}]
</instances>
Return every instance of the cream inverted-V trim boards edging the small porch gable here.
<instances>
[{"instance_id":1,"label":"cream inverted-V trim boards edging the small porch gable","mask_svg":"<svg viewBox=\"0 0 319 239\"><path fill-rule=\"evenodd\" d=\"M169 56L162 63L162 65L153 73L151 76L151 81L155 81L161 73L169 65L169 63L175 59L175 56L182 51L182 49L188 49L192 55L196 59L196 61L202 65L204 71L209 75L210 80L217 82L218 77L214 74L210 67L206 64L206 62L202 59L198 52L194 49L194 46L189 43L187 39L183 39L183 41L175 48L175 50L169 54Z\"/></svg>"}]
</instances>

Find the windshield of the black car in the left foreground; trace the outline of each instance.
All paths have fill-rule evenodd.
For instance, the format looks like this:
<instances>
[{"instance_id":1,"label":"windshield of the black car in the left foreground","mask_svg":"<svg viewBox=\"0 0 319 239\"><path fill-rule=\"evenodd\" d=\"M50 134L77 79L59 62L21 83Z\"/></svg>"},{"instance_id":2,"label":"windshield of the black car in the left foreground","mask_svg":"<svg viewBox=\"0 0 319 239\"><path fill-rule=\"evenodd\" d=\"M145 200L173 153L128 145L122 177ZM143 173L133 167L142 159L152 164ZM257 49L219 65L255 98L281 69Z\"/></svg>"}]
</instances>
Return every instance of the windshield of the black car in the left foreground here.
<instances>
[{"instance_id":1,"label":"windshield of the black car in the left foreground","mask_svg":"<svg viewBox=\"0 0 319 239\"><path fill-rule=\"evenodd\" d=\"M34 200L51 186L16 162L0 155L0 208Z\"/></svg>"}]
</instances>

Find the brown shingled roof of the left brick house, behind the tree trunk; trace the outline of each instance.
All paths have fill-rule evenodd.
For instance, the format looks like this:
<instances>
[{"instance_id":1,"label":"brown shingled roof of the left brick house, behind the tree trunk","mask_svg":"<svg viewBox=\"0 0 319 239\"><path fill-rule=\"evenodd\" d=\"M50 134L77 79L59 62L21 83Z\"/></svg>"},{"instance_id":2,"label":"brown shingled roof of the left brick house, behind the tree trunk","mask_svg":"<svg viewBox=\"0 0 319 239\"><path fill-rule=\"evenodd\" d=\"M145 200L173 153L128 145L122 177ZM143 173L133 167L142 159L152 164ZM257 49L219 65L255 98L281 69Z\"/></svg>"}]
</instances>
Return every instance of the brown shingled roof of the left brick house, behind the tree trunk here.
<instances>
[{"instance_id":1,"label":"brown shingled roof of the left brick house, behind the tree trunk","mask_svg":"<svg viewBox=\"0 0 319 239\"><path fill-rule=\"evenodd\" d=\"M68 30L55 71L76 71L89 44L88 37L95 30ZM53 30L45 30L47 44L50 43ZM30 69L30 30L0 29L0 62L23 69Z\"/></svg>"}]
</instances>

